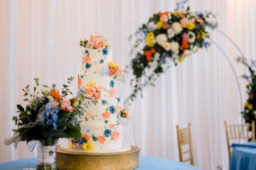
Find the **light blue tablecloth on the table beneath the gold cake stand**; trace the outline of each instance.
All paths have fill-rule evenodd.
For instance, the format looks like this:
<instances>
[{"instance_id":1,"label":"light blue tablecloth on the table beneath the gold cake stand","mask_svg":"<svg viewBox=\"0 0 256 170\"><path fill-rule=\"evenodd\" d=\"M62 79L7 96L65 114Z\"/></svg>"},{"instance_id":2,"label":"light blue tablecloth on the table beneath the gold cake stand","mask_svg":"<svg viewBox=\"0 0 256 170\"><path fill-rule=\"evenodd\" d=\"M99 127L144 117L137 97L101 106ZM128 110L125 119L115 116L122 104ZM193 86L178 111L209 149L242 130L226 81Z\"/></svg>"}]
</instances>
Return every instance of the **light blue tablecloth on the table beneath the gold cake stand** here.
<instances>
[{"instance_id":1,"label":"light blue tablecloth on the table beneath the gold cake stand","mask_svg":"<svg viewBox=\"0 0 256 170\"><path fill-rule=\"evenodd\" d=\"M28 167L29 159L20 159L0 164L0 170L23 170ZM32 167L36 166L36 158L32 158ZM135 170L199 170L189 164L170 159L140 156L140 167Z\"/></svg>"}]
</instances>

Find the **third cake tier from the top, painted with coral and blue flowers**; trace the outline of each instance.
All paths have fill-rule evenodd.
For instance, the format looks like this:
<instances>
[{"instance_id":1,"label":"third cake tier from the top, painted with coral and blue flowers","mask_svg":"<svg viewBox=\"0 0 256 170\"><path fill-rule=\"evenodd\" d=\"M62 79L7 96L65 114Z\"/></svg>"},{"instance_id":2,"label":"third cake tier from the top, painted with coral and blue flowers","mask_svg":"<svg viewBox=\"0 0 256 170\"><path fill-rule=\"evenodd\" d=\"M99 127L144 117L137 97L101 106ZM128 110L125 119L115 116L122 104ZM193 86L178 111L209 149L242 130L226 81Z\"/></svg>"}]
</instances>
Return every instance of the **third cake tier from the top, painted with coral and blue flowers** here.
<instances>
[{"instance_id":1,"label":"third cake tier from the top, painted with coral and blue flowers","mask_svg":"<svg viewBox=\"0 0 256 170\"><path fill-rule=\"evenodd\" d=\"M117 124L120 111L119 98L85 99L85 113L81 116L81 125Z\"/></svg>"}]
</instances>

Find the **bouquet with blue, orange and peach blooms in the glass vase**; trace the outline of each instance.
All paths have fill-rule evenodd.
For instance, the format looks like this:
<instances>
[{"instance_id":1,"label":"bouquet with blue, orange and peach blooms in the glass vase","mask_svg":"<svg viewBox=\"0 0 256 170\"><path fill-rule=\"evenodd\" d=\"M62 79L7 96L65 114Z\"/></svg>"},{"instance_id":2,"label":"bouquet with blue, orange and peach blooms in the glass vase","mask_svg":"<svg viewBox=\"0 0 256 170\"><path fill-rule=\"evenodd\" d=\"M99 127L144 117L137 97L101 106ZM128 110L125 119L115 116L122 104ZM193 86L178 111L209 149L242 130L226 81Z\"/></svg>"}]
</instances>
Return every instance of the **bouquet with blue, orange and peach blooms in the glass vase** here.
<instances>
[{"instance_id":1,"label":"bouquet with blue, orange and peach blooms in the glass vase","mask_svg":"<svg viewBox=\"0 0 256 170\"><path fill-rule=\"evenodd\" d=\"M38 78L35 78L35 86L30 94L27 85L23 89L23 100L28 104L25 108L17 105L19 115L13 116L17 129L13 130L13 137L6 139L5 144L15 143L17 147L19 141L38 140L44 146L51 146L58 138L81 138L79 124L80 116L84 113L84 94L67 99L68 94L73 95L69 89L71 81L73 77L63 85L62 95L55 89L55 84L51 87L42 85L46 89L38 91Z\"/></svg>"}]
</instances>

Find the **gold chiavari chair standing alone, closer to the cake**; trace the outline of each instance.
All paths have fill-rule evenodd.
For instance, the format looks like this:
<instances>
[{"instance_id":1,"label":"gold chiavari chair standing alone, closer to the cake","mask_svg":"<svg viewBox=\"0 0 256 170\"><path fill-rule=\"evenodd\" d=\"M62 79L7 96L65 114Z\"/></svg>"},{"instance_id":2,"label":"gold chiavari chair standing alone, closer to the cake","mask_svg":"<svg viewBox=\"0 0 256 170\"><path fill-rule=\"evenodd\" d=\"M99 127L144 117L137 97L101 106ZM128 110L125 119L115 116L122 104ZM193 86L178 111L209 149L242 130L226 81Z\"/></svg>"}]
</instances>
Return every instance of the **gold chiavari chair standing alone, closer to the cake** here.
<instances>
[{"instance_id":1,"label":"gold chiavari chair standing alone, closer to the cake","mask_svg":"<svg viewBox=\"0 0 256 170\"><path fill-rule=\"evenodd\" d=\"M189 127L183 128L183 129L179 129L179 125L177 125L177 136L178 136L178 144L179 144L180 161L181 162L189 161L191 165L194 165L190 123L189 123ZM183 151L183 147L186 145L189 147L189 150ZM184 160L183 156L188 153L189 153L189 157Z\"/></svg>"}]
</instances>

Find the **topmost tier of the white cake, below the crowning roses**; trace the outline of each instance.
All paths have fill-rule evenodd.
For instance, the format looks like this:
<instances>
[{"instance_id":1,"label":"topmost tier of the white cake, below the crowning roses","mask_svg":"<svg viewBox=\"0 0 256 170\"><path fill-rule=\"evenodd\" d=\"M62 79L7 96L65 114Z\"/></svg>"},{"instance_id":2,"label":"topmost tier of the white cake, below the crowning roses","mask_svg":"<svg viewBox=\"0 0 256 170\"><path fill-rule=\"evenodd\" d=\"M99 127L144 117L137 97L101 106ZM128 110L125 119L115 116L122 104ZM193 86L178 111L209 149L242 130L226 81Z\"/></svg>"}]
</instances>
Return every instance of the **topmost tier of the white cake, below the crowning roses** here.
<instances>
[{"instance_id":1,"label":"topmost tier of the white cake, below the crowning roses","mask_svg":"<svg viewBox=\"0 0 256 170\"><path fill-rule=\"evenodd\" d=\"M103 74L108 71L108 62L112 61L112 50L84 49L81 73Z\"/></svg>"}]
</instances>

